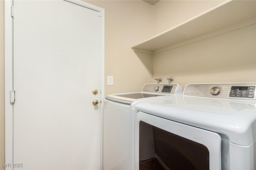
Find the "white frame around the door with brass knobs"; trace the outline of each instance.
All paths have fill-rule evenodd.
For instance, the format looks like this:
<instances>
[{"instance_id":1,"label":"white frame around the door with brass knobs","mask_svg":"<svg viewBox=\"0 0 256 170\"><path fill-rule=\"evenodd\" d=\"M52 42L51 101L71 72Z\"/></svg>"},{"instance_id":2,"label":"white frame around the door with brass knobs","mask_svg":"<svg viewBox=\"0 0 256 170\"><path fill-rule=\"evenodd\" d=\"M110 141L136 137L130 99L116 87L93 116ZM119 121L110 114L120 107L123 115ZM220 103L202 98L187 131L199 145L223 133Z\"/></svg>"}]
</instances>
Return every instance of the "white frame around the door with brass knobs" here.
<instances>
[{"instance_id":1,"label":"white frame around the door with brass knobs","mask_svg":"<svg viewBox=\"0 0 256 170\"><path fill-rule=\"evenodd\" d=\"M103 101L104 101L104 73L105 73L105 61L104 61L104 34L105 34L105 10L98 6L88 4L80 0L64 0L85 8L89 8L101 13L101 95L100 100L100 168L103 169ZM10 91L13 89L13 17L15 18L15 4L12 8L13 0L4 0L4 106L5 106L5 165L12 165L13 162L13 104L10 102ZM12 11L13 9L13 11ZM6 167L6 170L11 170L12 167Z\"/></svg>"}]
</instances>

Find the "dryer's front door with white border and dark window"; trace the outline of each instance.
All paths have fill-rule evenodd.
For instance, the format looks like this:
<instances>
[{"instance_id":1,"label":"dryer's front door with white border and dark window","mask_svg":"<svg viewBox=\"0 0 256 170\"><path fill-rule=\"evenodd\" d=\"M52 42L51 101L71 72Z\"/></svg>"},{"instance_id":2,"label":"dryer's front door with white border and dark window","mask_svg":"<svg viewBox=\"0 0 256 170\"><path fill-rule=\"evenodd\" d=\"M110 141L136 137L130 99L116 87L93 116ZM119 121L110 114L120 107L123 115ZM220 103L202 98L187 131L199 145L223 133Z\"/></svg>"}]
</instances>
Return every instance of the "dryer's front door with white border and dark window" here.
<instances>
[{"instance_id":1,"label":"dryer's front door with white border and dark window","mask_svg":"<svg viewBox=\"0 0 256 170\"><path fill-rule=\"evenodd\" d=\"M140 135L146 133L142 131L145 123L151 127L151 138L145 139ZM146 141L148 139L152 141ZM221 137L217 133L139 111L136 121L137 154L144 154L145 150L140 146L145 143L153 143L154 157L165 168L221 169ZM136 168L138 166L139 156L136 155Z\"/></svg>"}]
</instances>

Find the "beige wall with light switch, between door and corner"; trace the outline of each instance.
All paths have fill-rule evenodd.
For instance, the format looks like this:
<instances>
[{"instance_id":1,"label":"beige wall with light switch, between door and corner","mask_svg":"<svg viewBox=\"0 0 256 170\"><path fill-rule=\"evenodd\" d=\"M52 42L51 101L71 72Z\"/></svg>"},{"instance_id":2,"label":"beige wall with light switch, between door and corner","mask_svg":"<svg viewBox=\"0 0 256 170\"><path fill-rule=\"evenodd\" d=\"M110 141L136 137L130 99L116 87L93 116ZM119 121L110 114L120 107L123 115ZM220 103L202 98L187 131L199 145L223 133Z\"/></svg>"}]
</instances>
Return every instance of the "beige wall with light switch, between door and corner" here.
<instances>
[{"instance_id":1,"label":"beige wall with light switch, between door and corner","mask_svg":"<svg viewBox=\"0 0 256 170\"><path fill-rule=\"evenodd\" d=\"M153 36L153 6L139 0L87 0L105 9L105 94L137 92L152 83L152 57L131 47ZM114 76L114 86L107 86Z\"/></svg>"}]
</instances>

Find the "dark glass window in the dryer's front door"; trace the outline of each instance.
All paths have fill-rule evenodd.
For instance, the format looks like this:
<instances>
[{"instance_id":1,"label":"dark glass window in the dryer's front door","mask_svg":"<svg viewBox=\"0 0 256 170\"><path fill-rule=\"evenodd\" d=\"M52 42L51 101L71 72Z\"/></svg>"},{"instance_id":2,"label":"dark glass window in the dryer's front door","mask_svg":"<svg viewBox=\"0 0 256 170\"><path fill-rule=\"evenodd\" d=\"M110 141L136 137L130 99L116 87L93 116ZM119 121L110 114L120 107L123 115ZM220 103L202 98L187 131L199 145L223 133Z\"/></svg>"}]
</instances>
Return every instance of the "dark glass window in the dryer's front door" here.
<instances>
[{"instance_id":1,"label":"dark glass window in the dryer's front door","mask_svg":"<svg viewBox=\"0 0 256 170\"><path fill-rule=\"evenodd\" d=\"M144 129L142 127L145 124L151 126L151 143L154 145L154 156L160 162L158 164L154 160L154 166L158 166L159 168L160 166L166 166L168 169L174 170L209 170L209 150L206 146L142 121L140 121L141 130ZM146 132L140 131L140 134L144 133ZM148 143L148 141L140 137L140 147L145 143ZM140 154L143 155L141 151L140 149ZM145 164L152 163L140 163L140 170L144 169Z\"/></svg>"}]
</instances>

